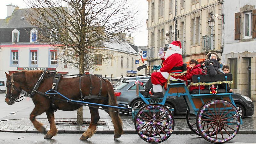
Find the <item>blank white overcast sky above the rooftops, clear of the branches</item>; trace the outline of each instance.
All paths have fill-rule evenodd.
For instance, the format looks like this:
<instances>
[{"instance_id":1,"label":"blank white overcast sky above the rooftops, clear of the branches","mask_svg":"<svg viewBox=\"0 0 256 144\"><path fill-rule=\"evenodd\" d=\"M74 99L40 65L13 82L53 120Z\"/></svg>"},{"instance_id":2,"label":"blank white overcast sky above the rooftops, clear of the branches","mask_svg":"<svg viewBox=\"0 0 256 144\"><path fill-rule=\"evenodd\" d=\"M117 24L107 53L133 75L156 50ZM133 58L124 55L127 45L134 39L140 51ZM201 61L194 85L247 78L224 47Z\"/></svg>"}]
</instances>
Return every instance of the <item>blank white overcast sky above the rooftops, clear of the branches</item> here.
<instances>
[{"instance_id":1,"label":"blank white overcast sky above the rooftops, clear of the branches","mask_svg":"<svg viewBox=\"0 0 256 144\"><path fill-rule=\"evenodd\" d=\"M26 0L0 0L0 19L6 18L6 5L13 4L22 8L29 8L26 5ZM138 8L138 20L142 21L142 26L131 34L134 37L134 44L137 46L147 46L148 44L148 31L146 20L148 19L148 1L147 0L136 0L134 6Z\"/></svg>"}]
</instances>

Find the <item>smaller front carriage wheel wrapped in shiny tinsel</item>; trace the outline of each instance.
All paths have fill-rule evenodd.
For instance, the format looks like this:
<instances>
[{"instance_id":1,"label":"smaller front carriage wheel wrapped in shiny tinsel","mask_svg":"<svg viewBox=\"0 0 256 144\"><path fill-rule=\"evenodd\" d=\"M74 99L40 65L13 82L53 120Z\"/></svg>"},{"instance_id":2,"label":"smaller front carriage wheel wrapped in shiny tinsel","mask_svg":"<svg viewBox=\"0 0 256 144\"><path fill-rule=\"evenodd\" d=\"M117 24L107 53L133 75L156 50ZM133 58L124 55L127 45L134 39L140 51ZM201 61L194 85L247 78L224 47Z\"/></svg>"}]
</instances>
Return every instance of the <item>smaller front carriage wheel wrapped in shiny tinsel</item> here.
<instances>
[{"instance_id":1,"label":"smaller front carriage wheel wrapped in shiny tinsel","mask_svg":"<svg viewBox=\"0 0 256 144\"><path fill-rule=\"evenodd\" d=\"M165 106L152 103L139 110L134 125L142 140L160 143L171 136L174 119L171 111Z\"/></svg>"}]
</instances>

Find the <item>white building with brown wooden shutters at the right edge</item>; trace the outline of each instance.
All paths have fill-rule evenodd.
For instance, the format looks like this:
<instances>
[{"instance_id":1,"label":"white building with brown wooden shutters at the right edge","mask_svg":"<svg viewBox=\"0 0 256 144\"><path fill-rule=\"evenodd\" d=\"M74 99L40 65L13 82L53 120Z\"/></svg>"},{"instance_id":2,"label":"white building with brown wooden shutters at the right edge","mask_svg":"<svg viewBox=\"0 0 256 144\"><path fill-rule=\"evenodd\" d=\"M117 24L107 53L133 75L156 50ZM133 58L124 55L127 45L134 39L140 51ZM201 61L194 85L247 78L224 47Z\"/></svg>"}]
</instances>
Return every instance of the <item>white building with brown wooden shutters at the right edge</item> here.
<instances>
[{"instance_id":1,"label":"white building with brown wooden shutters at the right edge","mask_svg":"<svg viewBox=\"0 0 256 144\"><path fill-rule=\"evenodd\" d=\"M232 9L230 9L232 5ZM223 64L230 66L234 92L256 102L256 1L225 0Z\"/></svg>"}]
</instances>

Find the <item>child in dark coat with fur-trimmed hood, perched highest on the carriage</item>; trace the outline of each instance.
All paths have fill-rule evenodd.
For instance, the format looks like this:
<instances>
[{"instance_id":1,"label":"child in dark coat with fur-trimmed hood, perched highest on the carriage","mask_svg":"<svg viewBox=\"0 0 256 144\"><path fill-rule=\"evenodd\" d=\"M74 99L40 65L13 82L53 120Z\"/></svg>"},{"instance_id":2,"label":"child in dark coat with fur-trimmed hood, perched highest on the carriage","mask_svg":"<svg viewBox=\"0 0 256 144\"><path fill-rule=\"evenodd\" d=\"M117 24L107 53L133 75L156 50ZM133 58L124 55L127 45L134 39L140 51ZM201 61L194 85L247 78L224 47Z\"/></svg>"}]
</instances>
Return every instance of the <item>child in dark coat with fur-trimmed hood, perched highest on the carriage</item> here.
<instances>
[{"instance_id":1,"label":"child in dark coat with fur-trimmed hood, perched highest on the carriage","mask_svg":"<svg viewBox=\"0 0 256 144\"><path fill-rule=\"evenodd\" d=\"M220 57L216 52L209 52L206 55L206 62L202 63L202 67L207 70L207 74L210 74L211 76L215 76L217 73L219 73L220 69Z\"/></svg>"}]
</instances>

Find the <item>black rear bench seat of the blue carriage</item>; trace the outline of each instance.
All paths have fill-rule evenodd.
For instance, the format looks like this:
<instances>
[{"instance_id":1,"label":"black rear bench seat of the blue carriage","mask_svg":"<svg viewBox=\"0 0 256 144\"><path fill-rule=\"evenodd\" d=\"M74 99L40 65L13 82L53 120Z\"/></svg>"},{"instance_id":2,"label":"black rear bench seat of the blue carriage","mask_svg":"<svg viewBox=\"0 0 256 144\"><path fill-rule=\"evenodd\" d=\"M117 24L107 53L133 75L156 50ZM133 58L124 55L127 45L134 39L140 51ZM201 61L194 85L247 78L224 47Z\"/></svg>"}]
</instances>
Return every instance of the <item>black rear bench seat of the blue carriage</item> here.
<instances>
[{"instance_id":1,"label":"black rear bench seat of the blue carriage","mask_svg":"<svg viewBox=\"0 0 256 144\"><path fill-rule=\"evenodd\" d=\"M198 82L198 77L200 77L200 82L216 82L216 81L226 81L225 76L227 76L227 81L232 81L232 74L227 73L227 74L216 74L216 76L210 76L209 74L206 75L193 75L192 76L192 81L194 83ZM205 86L205 89L200 90L200 94L209 94L210 90L209 87ZM218 88L217 93L226 93L226 89L223 88ZM229 93L227 91L227 93ZM190 94L199 94L198 89L194 89L193 91L190 92Z\"/></svg>"}]
</instances>

